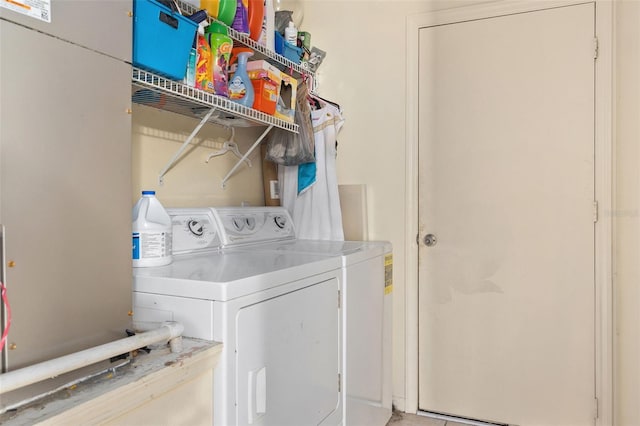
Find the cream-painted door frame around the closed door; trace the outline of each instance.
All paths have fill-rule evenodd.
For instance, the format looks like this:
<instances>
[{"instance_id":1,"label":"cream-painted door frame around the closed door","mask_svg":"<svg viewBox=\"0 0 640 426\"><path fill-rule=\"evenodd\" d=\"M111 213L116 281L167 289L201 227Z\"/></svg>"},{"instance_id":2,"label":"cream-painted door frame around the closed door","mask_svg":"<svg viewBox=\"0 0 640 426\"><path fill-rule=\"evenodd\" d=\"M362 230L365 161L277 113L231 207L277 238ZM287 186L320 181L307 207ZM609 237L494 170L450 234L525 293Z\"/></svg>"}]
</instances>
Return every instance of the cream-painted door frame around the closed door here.
<instances>
[{"instance_id":1,"label":"cream-painted door frame around the closed door","mask_svg":"<svg viewBox=\"0 0 640 426\"><path fill-rule=\"evenodd\" d=\"M406 157L405 185L405 412L418 411L418 78L419 32L445 23L484 19L576 4L596 8L597 60L595 61L595 389L596 425L613 424L613 93L614 2L606 0L498 0L438 10L407 17L406 43ZM595 43L595 41L594 41ZM402 401L398 401L402 403Z\"/></svg>"}]
</instances>

